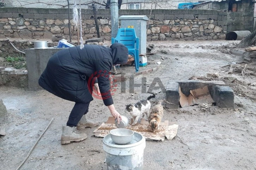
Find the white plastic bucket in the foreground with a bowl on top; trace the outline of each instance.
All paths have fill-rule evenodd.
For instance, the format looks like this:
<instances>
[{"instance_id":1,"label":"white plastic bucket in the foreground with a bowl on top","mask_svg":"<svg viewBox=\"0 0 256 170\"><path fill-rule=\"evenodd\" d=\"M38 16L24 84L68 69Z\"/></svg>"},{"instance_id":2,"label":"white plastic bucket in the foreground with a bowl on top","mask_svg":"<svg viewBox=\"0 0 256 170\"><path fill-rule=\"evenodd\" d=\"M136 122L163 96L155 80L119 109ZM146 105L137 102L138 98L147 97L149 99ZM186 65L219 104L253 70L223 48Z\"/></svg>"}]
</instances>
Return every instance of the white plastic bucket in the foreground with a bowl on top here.
<instances>
[{"instance_id":1,"label":"white plastic bucket in the foreground with a bowl on top","mask_svg":"<svg viewBox=\"0 0 256 170\"><path fill-rule=\"evenodd\" d=\"M115 144L109 135L103 138L107 170L143 170L143 156L146 147L145 137L134 132L132 142L126 145Z\"/></svg>"}]
</instances>

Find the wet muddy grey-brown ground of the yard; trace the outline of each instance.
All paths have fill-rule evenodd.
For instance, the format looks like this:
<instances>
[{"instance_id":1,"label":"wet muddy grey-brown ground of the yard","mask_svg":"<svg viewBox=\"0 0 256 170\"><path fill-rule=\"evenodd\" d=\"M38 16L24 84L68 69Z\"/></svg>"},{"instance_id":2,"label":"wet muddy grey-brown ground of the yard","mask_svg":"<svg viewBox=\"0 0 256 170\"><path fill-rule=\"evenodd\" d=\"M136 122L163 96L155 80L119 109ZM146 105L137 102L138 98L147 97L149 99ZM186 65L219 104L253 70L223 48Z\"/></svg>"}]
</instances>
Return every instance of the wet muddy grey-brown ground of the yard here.
<instances>
[{"instance_id":1,"label":"wet muddy grey-brown ground of the yard","mask_svg":"<svg viewBox=\"0 0 256 170\"><path fill-rule=\"evenodd\" d=\"M225 40L154 42L158 53L148 56L148 64L157 65L160 61L161 67L157 72L136 77L135 83L141 83L142 77L147 78L146 84L159 77L165 86L169 80L223 80L233 85L235 109L216 106L206 111L199 106L165 109L163 120L179 125L177 136L163 142L147 140L144 169L256 169L255 64L246 65L243 77L241 71L245 63L240 63L241 57L228 53L237 43L239 41ZM229 67L221 67L228 64L235 64L233 74L227 74ZM207 73L218 73L219 77L207 77ZM128 81L126 87L126 93L121 93L118 83L113 98L117 111L129 116L124 105L136 103L136 98L148 94L141 94L141 87L135 87L132 96ZM16 169L52 118L48 130L20 169L106 169L103 138L92 136L96 127L81 130L88 135L84 141L60 144L62 124L66 123L73 102L44 90L0 87L0 91L0 99L8 110L4 123L0 124L7 133L0 138L0 169ZM157 95L165 97L161 92ZM109 116L102 100L91 102L88 117L102 123Z\"/></svg>"}]
</instances>

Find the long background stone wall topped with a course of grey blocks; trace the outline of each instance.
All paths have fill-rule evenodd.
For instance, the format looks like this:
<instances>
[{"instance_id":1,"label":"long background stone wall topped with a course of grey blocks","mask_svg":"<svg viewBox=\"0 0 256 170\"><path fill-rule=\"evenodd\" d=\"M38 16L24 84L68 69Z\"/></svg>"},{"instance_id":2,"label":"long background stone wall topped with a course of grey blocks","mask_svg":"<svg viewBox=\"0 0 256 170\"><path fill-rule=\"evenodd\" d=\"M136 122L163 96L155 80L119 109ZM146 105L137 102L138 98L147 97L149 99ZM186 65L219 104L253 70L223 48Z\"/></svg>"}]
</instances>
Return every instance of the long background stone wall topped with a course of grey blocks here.
<instances>
[{"instance_id":1,"label":"long background stone wall topped with a course of grey blocks","mask_svg":"<svg viewBox=\"0 0 256 170\"><path fill-rule=\"evenodd\" d=\"M81 13L83 38L97 37L92 10ZM119 15L147 15L148 40L206 40L226 34L227 13L217 10L153 9L150 17L150 9L121 9ZM110 9L98 9L97 18L101 37L110 40ZM72 39L77 39L73 20L71 30ZM51 39L52 35L68 37L68 9L0 8L0 38Z\"/></svg>"}]
</instances>

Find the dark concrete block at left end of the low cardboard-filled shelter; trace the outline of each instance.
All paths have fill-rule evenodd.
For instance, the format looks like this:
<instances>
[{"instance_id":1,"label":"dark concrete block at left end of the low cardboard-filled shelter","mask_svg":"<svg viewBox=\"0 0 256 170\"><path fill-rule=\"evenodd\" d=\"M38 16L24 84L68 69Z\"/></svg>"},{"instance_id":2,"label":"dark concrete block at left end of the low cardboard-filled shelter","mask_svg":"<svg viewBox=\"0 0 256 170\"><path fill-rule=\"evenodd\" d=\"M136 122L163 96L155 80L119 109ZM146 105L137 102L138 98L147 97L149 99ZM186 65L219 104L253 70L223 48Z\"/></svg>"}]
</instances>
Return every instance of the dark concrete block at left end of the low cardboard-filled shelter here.
<instances>
[{"instance_id":1,"label":"dark concrete block at left end of the low cardboard-filled shelter","mask_svg":"<svg viewBox=\"0 0 256 170\"><path fill-rule=\"evenodd\" d=\"M169 81L166 86L166 107L169 109L179 109L179 83Z\"/></svg>"}]
</instances>

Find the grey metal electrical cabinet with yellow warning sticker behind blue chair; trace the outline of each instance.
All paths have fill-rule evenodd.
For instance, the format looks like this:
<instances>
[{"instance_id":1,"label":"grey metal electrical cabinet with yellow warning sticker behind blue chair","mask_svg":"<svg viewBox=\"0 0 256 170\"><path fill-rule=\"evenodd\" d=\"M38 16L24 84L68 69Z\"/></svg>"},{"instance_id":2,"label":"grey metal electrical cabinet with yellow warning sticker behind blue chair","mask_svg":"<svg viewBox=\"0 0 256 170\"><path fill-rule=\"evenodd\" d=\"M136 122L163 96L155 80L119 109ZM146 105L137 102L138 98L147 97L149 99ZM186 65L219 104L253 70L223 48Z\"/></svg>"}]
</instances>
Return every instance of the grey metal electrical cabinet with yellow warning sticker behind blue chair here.
<instances>
[{"instance_id":1,"label":"grey metal electrical cabinet with yellow warning sticker behind blue chair","mask_svg":"<svg viewBox=\"0 0 256 170\"><path fill-rule=\"evenodd\" d=\"M123 15L119 17L121 28L134 28L136 36L140 39L139 54L146 53L147 46L147 21L146 15Z\"/></svg>"}]
</instances>

